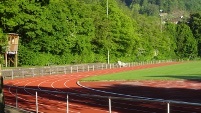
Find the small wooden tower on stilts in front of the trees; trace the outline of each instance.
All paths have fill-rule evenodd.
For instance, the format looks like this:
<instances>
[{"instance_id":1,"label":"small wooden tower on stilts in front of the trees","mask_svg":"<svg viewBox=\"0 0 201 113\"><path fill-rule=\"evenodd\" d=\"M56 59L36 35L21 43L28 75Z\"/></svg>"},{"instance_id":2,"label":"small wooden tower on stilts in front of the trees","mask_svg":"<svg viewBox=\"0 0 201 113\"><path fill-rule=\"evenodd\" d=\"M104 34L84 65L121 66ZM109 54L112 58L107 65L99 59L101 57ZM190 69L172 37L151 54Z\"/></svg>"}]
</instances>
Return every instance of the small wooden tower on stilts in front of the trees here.
<instances>
[{"instance_id":1,"label":"small wooden tower on stilts in front of the trees","mask_svg":"<svg viewBox=\"0 0 201 113\"><path fill-rule=\"evenodd\" d=\"M8 33L8 46L5 53L5 66L17 67L17 51L18 51L19 35L16 33Z\"/></svg>"}]
</instances>

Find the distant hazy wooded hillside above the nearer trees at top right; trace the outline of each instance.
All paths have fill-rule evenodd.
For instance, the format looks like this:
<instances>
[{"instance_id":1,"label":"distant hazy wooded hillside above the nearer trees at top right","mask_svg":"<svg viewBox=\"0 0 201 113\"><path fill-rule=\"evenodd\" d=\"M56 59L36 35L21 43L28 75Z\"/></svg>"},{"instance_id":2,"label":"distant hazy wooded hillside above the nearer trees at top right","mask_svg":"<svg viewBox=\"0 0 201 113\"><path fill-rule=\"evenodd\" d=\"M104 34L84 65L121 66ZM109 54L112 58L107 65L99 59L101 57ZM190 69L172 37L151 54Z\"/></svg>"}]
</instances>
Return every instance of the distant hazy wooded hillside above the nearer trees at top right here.
<instances>
[{"instance_id":1,"label":"distant hazy wooded hillside above the nearer trees at top right","mask_svg":"<svg viewBox=\"0 0 201 113\"><path fill-rule=\"evenodd\" d=\"M130 0L124 0L129 3ZM177 11L200 11L200 0L132 0L131 7L138 4L141 14L158 16L159 10L163 10L166 13L174 13Z\"/></svg>"}]
</instances>

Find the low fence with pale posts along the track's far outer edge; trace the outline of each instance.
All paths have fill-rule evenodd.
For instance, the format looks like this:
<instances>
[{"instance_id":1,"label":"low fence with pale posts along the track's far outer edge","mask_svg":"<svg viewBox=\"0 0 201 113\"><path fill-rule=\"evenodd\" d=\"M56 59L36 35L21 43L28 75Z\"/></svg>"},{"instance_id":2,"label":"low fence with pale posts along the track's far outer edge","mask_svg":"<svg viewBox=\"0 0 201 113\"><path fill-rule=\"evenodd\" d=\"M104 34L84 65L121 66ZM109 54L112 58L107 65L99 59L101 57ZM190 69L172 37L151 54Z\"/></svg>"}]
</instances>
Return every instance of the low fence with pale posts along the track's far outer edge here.
<instances>
[{"instance_id":1,"label":"low fence with pale posts along the track's far outer edge","mask_svg":"<svg viewBox=\"0 0 201 113\"><path fill-rule=\"evenodd\" d=\"M128 67L146 64L157 64L172 62L172 60L159 60L159 61L144 61L144 62L132 62L126 63ZM67 74L74 72L84 72L84 71L94 71L103 69L120 68L118 63L105 64L82 64L82 65L71 65L71 66L45 66L45 67L33 67L33 68L15 68L2 70L2 76L7 78L18 78L18 77L28 77L28 76L44 76L52 74Z\"/></svg>"}]
</instances>

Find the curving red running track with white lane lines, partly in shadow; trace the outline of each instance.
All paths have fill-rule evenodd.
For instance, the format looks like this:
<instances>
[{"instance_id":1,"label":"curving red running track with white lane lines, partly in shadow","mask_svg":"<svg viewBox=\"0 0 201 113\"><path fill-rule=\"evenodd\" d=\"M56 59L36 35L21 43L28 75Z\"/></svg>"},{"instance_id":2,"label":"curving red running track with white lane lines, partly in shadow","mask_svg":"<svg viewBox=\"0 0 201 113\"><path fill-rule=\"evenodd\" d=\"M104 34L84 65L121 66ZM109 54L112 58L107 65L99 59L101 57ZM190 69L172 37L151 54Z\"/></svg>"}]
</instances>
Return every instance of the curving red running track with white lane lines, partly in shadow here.
<instances>
[{"instance_id":1,"label":"curving red running track with white lane lines, partly in shadow","mask_svg":"<svg viewBox=\"0 0 201 113\"><path fill-rule=\"evenodd\" d=\"M77 84L82 78L88 76L117 73L122 71L137 70L175 63L160 63L144 66L124 67L107 70L96 70L72 74L40 76L5 80L4 87L6 104L16 106L16 87L18 107L28 111L36 111L36 91L38 95L38 111L43 113L66 113L67 95L64 93L96 94L103 96L143 96L150 98L172 99L201 103L201 84L193 81L116 81L116 82L81 82L88 88ZM178 83L178 84L176 84ZM175 85L174 85L175 84ZM181 85L181 84L185 84ZM27 89L29 88L29 89ZM33 90L34 89L34 90ZM44 92L51 90L57 93ZM105 92L100 92L105 91ZM59 93L58 93L59 92ZM113 93L108 93L113 92ZM168 94L167 94L168 93ZM122 95L119 95L122 94ZM123 95L124 94L124 95ZM183 95L186 94L186 95ZM80 95L69 96L69 113L108 113L108 99L83 97ZM139 101L112 100L112 113L166 113L166 103L150 103ZM171 105L171 113L201 113L200 106Z\"/></svg>"}]
</instances>

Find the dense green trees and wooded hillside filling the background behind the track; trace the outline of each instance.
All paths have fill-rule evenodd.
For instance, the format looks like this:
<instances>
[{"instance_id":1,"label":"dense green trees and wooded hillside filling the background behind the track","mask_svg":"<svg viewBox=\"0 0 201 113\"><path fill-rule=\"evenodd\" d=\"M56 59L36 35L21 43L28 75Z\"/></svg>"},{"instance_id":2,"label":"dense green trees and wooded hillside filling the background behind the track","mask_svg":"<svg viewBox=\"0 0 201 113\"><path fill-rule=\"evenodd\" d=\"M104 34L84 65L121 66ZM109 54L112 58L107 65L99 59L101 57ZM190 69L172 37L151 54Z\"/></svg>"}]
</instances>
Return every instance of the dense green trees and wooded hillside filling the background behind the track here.
<instances>
[{"instance_id":1,"label":"dense green trees and wooded hillside filling the background behind the track","mask_svg":"<svg viewBox=\"0 0 201 113\"><path fill-rule=\"evenodd\" d=\"M20 66L201 56L201 0L0 0L0 16Z\"/></svg>"}]
</instances>

